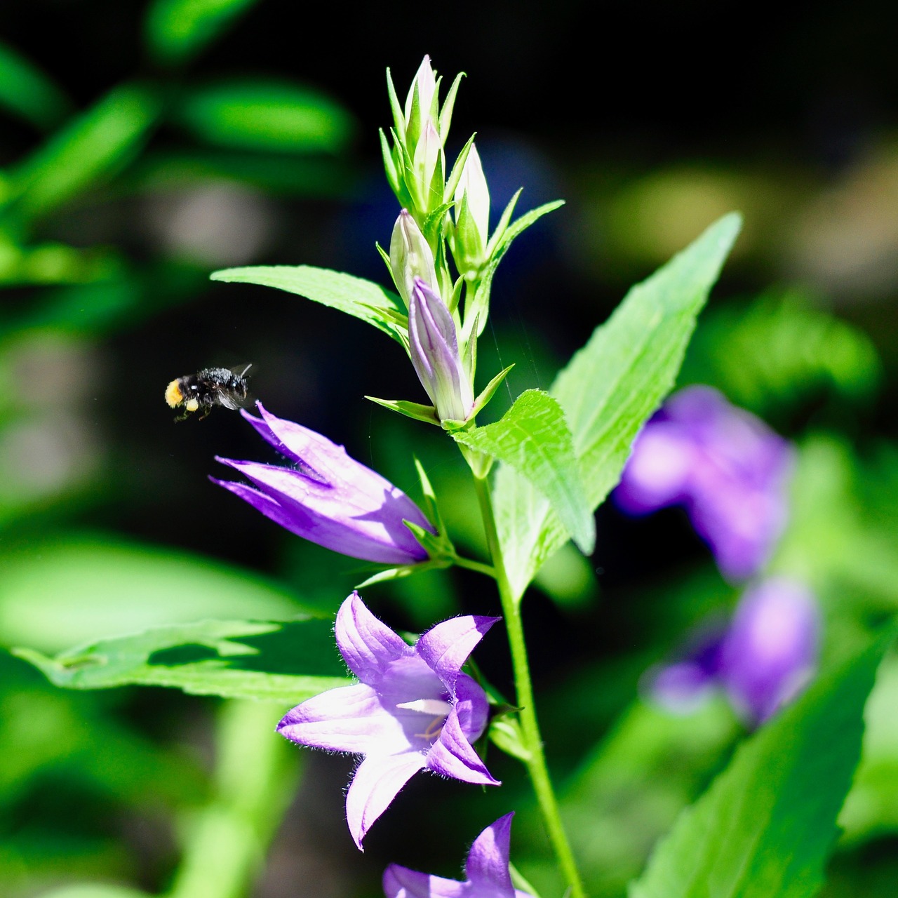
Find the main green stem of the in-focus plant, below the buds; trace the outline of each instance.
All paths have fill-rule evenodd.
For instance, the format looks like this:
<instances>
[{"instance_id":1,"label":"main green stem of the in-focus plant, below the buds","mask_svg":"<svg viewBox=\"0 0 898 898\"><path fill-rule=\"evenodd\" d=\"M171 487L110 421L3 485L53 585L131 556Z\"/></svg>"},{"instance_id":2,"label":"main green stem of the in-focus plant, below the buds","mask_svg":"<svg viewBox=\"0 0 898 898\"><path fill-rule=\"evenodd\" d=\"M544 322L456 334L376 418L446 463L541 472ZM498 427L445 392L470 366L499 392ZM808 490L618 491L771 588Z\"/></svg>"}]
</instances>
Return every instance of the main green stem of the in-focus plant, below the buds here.
<instances>
[{"instance_id":1,"label":"main green stem of the in-focus plant, below the buds","mask_svg":"<svg viewBox=\"0 0 898 898\"><path fill-rule=\"evenodd\" d=\"M524 641L524 622L521 619L520 604L515 601L511 584L508 582L505 561L502 558L502 547L499 545L496 517L493 515L489 482L486 478L481 479L475 476L474 483L477 488L480 514L483 516L483 525L487 532L489 554L493 559L496 584L508 632L508 646L511 649L512 667L515 672L516 702L520 708L518 714L521 721L524 747L528 752L528 757L524 764L527 767L527 772L530 774L533 791L540 806L542 821L545 824L546 832L549 834L552 850L555 851L555 857L558 858L562 875L568 884L568 894L570 898L585 898L585 889L577 870L574 853L570 849L568 835L561 823L558 799L555 797L555 790L552 788L549 768L546 766L546 756L542 750L540 725L536 719L536 708L533 701L530 665L527 661L527 646Z\"/></svg>"}]
</instances>

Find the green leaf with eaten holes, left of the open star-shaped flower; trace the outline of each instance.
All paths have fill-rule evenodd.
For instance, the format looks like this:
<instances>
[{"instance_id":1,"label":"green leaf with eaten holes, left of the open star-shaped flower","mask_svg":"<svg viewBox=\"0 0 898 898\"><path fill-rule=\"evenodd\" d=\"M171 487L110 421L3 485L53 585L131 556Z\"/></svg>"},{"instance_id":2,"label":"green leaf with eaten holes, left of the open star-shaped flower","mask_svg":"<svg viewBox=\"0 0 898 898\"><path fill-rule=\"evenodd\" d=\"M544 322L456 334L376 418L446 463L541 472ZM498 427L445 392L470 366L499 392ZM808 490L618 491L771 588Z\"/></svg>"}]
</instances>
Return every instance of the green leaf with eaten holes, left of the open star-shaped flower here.
<instances>
[{"instance_id":1,"label":"green leaf with eaten holes, left of the open star-shaped flower","mask_svg":"<svg viewBox=\"0 0 898 898\"><path fill-rule=\"evenodd\" d=\"M147 629L48 657L13 655L66 689L170 686L194 695L296 704L348 679L334 651L331 621L200 621Z\"/></svg>"}]
</instances>

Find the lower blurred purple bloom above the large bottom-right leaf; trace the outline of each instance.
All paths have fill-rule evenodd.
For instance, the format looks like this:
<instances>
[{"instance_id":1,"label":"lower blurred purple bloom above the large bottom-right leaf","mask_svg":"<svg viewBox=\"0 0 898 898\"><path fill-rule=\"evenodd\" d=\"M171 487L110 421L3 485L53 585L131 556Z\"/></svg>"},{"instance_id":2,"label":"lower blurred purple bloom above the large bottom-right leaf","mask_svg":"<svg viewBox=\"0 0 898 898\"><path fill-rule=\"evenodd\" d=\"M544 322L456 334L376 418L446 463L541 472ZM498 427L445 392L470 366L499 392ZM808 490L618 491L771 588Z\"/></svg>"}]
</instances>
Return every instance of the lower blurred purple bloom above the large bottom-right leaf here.
<instances>
[{"instance_id":1,"label":"lower blurred purple bloom above the large bottom-right leaf","mask_svg":"<svg viewBox=\"0 0 898 898\"><path fill-rule=\"evenodd\" d=\"M732 620L704 629L687 654L652 675L652 697L691 711L716 688L752 725L795 698L817 663L820 612L796 580L769 577L745 591Z\"/></svg>"}]
</instances>

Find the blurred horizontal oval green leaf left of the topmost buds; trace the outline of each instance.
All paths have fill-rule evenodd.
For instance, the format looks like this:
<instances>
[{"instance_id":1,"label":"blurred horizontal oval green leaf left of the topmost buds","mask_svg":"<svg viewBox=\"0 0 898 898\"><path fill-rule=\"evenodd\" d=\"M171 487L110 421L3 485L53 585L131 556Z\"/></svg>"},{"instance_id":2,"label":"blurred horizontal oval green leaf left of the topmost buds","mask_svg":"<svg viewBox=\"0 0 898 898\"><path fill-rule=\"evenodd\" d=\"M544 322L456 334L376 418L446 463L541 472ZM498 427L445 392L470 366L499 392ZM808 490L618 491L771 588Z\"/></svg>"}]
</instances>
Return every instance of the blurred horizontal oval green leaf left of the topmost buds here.
<instances>
[{"instance_id":1,"label":"blurred horizontal oval green leaf left of the topmost buds","mask_svg":"<svg viewBox=\"0 0 898 898\"><path fill-rule=\"evenodd\" d=\"M175 117L209 143L280 153L338 153L355 130L339 103L287 81L229 81L195 89Z\"/></svg>"}]
</instances>

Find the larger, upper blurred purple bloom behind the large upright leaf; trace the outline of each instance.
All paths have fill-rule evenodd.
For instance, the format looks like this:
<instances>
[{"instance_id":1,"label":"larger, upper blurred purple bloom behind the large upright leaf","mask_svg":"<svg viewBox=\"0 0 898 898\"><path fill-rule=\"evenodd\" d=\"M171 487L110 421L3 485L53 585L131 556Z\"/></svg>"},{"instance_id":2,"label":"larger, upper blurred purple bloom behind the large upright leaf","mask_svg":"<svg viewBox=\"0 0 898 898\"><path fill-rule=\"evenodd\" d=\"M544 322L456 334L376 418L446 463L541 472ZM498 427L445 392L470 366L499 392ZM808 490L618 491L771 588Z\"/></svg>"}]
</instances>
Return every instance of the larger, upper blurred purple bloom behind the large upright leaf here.
<instances>
[{"instance_id":1,"label":"larger, upper blurred purple bloom behind the large upright leaf","mask_svg":"<svg viewBox=\"0 0 898 898\"><path fill-rule=\"evenodd\" d=\"M651 418L614 491L629 515L683 505L725 577L752 577L788 515L792 450L717 390L687 387Z\"/></svg>"}]
</instances>

